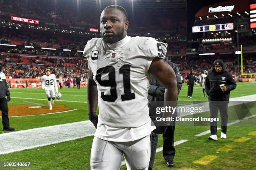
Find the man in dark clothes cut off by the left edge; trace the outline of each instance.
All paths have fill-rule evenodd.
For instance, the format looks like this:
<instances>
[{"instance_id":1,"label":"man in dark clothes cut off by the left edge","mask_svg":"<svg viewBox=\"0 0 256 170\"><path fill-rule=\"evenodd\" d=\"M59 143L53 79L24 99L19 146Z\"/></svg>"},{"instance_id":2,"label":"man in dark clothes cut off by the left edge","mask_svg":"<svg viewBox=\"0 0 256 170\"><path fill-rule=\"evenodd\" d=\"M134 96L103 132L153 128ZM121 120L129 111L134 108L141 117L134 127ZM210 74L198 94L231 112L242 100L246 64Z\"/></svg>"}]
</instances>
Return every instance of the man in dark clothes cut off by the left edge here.
<instances>
[{"instance_id":1,"label":"man in dark clothes cut off by the left edge","mask_svg":"<svg viewBox=\"0 0 256 170\"><path fill-rule=\"evenodd\" d=\"M2 122L3 130L14 131L14 128L10 127L9 117L8 117L8 104L10 101L10 91L5 79L5 74L1 72L2 66L0 66L0 110L2 111ZM7 96L7 100L5 98Z\"/></svg>"}]
</instances>

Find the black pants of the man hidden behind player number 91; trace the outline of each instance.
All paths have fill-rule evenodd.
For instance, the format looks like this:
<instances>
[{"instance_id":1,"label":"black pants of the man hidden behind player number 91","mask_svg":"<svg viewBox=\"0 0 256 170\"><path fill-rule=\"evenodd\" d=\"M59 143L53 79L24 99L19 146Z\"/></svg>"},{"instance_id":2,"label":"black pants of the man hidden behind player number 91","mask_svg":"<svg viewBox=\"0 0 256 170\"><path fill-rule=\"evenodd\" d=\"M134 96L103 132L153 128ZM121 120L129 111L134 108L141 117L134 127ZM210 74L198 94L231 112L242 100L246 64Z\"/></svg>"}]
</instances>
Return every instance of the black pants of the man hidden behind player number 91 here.
<instances>
[{"instance_id":1,"label":"black pants of the man hidden behind player number 91","mask_svg":"<svg viewBox=\"0 0 256 170\"><path fill-rule=\"evenodd\" d=\"M174 148L174 130L175 126L169 126L163 133L163 156L165 160L172 160L174 159L175 156L176 151ZM151 157L149 161L148 170L153 169L157 142L158 135L151 133Z\"/></svg>"}]
</instances>

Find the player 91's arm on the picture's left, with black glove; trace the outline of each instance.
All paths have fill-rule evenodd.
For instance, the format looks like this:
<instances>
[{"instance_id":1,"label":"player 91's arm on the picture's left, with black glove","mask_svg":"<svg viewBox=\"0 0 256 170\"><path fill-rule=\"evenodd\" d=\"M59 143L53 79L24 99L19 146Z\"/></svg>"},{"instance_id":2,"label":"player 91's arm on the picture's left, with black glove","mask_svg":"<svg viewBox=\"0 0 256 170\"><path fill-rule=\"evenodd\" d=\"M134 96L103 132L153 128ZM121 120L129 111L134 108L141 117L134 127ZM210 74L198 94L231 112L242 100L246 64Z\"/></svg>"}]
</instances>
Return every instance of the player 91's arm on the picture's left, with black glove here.
<instances>
[{"instance_id":1,"label":"player 91's arm on the picture's left, with black glove","mask_svg":"<svg viewBox=\"0 0 256 170\"><path fill-rule=\"evenodd\" d=\"M95 128L97 128L97 123L98 123L98 116L96 115L97 105L98 105L97 84L93 80L93 73L89 70L89 77L87 81L88 116L90 121L95 126Z\"/></svg>"}]
</instances>

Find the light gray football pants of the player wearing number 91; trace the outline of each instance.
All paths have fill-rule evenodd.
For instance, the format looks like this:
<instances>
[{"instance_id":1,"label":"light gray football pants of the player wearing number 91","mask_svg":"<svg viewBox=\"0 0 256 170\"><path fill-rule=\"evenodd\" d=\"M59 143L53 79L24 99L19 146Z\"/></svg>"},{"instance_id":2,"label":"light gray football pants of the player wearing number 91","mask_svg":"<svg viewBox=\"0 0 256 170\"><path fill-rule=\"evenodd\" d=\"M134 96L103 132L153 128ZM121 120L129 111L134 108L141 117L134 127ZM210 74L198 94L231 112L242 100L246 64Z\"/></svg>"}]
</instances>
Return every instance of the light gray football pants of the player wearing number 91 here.
<instances>
[{"instance_id":1,"label":"light gray football pants of the player wearing number 91","mask_svg":"<svg viewBox=\"0 0 256 170\"><path fill-rule=\"evenodd\" d=\"M91 170L119 170L123 155L127 170L148 170L150 148L150 135L131 142L110 142L94 137Z\"/></svg>"}]
</instances>

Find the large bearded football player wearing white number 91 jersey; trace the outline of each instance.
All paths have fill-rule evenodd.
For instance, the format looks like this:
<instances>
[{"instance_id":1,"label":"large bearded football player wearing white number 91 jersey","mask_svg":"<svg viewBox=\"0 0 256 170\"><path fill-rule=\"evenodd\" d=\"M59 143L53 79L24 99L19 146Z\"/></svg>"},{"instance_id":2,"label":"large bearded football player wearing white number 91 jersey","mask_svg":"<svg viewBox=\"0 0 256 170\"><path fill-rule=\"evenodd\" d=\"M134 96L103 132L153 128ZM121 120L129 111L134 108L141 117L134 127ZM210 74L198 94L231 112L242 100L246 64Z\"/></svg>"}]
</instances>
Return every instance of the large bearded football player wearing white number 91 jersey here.
<instances>
[{"instance_id":1,"label":"large bearded football player wearing white number 91 jersey","mask_svg":"<svg viewBox=\"0 0 256 170\"><path fill-rule=\"evenodd\" d=\"M102 38L89 40L84 48L88 113L97 128L91 170L119 170L122 155L128 170L148 170L151 131L166 130L166 126L151 126L149 73L166 87L166 106L176 105L167 102L177 101L177 80L172 67L161 59L161 44L151 37L128 37L128 25L123 7L106 7L100 16ZM172 114L164 113L167 116Z\"/></svg>"}]
</instances>

